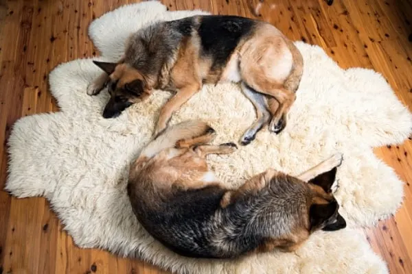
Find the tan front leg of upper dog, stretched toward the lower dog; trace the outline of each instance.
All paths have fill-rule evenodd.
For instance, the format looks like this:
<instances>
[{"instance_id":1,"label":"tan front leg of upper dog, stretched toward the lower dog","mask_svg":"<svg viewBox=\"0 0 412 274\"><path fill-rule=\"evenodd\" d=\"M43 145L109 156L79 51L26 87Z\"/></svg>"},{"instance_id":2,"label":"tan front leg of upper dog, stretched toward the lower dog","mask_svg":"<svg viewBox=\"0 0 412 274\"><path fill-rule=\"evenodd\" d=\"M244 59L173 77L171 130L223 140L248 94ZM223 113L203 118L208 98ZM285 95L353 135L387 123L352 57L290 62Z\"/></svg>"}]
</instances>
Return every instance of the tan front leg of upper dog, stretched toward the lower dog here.
<instances>
[{"instance_id":1,"label":"tan front leg of upper dog, stretched toward the lower dog","mask_svg":"<svg viewBox=\"0 0 412 274\"><path fill-rule=\"evenodd\" d=\"M190 99L196 92L198 92L198 85L185 86L181 88L174 97L169 99L160 111L159 121L155 129L155 136L158 136L168 126L172 114L178 110L183 103Z\"/></svg>"}]
</instances>

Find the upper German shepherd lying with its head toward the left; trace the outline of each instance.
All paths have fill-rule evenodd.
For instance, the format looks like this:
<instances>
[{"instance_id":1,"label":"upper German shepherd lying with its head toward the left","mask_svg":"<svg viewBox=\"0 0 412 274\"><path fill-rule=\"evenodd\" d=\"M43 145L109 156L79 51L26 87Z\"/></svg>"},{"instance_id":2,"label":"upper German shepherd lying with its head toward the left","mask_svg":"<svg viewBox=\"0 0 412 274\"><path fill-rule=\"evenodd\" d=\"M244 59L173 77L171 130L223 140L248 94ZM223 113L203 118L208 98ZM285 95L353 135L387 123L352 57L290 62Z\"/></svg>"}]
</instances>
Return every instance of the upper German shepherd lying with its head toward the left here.
<instances>
[{"instance_id":1,"label":"upper German shepherd lying with its head toward the left","mask_svg":"<svg viewBox=\"0 0 412 274\"><path fill-rule=\"evenodd\" d=\"M154 89L176 92L161 109L155 136L203 83L240 82L258 118L242 136L242 145L266 124L276 134L284 129L303 70L301 53L278 29L238 16L155 23L128 38L119 62L94 63L104 73L88 86L87 94L97 95L107 87L111 98L105 118L143 101Z\"/></svg>"}]
</instances>

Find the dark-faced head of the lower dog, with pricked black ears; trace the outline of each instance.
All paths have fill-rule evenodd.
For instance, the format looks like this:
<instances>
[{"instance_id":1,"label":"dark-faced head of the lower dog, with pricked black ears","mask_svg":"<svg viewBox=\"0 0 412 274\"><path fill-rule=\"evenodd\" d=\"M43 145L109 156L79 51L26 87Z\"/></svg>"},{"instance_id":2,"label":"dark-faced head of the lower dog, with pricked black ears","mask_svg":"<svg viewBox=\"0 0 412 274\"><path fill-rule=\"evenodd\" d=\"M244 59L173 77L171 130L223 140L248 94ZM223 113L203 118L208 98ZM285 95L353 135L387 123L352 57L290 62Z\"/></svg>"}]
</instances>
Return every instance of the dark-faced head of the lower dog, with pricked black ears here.
<instances>
[{"instance_id":1,"label":"dark-faced head of the lower dog, with pricked black ears","mask_svg":"<svg viewBox=\"0 0 412 274\"><path fill-rule=\"evenodd\" d=\"M310 230L334 231L346 227L346 221L339 214L339 204L333 196L332 184L336 167L311 179L308 184L313 196L309 208Z\"/></svg>"}]
</instances>

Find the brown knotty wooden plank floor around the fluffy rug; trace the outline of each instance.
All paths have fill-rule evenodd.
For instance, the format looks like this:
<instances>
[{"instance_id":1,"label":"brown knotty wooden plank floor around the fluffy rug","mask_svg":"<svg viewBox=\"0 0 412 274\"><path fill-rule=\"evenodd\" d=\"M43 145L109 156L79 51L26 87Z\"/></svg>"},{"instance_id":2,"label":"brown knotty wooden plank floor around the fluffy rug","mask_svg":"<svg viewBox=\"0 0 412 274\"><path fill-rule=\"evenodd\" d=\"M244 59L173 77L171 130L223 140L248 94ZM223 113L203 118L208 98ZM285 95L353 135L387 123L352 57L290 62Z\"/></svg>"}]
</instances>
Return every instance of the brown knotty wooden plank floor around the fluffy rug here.
<instances>
[{"instance_id":1,"label":"brown knotty wooden plank floor around the fluffy rug","mask_svg":"<svg viewBox=\"0 0 412 274\"><path fill-rule=\"evenodd\" d=\"M5 144L21 116L58 111L47 75L61 62L98 55L89 23L127 0L0 0L0 189ZM261 3L263 2L263 3ZM170 10L201 8L269 21L293 40L320 45L343 68L382 73L412 109L412 3L409 0L165 0ZM376 149L405 184L393 219L365 235L391 273L412 273L412 141ZM382 182L384 183L384 182ZM15 199L0 191L1 273L161 273L138 260L78 249L42 198Z\"/></svg>"}]
</instances>

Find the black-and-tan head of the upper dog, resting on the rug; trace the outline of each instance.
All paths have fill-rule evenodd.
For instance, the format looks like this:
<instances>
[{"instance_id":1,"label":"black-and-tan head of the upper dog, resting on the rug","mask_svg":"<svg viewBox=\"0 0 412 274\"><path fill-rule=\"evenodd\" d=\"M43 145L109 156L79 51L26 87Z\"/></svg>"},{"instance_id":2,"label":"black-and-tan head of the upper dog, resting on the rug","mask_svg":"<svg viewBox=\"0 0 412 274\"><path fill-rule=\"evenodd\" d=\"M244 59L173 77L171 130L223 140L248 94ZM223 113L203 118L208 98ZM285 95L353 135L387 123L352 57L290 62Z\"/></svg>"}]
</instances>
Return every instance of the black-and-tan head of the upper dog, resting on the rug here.
<instances>
[{"instance_id":1,"label":"black-and-tan head of the upper dog, resting on the rug","mask_svg":"<svg viewBox=\"0 0 412 274\"><path fill-rule=\"evenodd\" d=\"M105 84L111 95L103 111L104 118L115 118L133 103L149 97L151 90L146 87L144 77L128 64L93 61L108 74Z\"/></svg>"}]
</instances>

